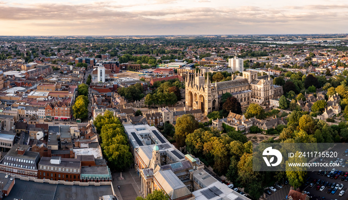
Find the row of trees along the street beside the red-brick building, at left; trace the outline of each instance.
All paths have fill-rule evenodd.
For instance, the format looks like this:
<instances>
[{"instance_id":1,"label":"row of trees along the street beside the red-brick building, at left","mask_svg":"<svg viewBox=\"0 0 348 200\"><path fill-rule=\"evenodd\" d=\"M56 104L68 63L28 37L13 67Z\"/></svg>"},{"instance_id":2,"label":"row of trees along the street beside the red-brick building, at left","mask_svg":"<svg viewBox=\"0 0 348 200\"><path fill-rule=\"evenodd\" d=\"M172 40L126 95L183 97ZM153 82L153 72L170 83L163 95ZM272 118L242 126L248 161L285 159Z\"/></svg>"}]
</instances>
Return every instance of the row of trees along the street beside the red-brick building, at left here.
<instances>
[{"instance_id":1,"label":"row of trees along the street beside the red-brick building, at left","mask_svg":"<svg viewBox=\"0 0 348 200\"><path fill-rule=\"evenodd\" d=\"M78 86L78 97L73 105L75 119L85 119L88 117L88 86L81 84Z\"/></svg>"}]
</instances>

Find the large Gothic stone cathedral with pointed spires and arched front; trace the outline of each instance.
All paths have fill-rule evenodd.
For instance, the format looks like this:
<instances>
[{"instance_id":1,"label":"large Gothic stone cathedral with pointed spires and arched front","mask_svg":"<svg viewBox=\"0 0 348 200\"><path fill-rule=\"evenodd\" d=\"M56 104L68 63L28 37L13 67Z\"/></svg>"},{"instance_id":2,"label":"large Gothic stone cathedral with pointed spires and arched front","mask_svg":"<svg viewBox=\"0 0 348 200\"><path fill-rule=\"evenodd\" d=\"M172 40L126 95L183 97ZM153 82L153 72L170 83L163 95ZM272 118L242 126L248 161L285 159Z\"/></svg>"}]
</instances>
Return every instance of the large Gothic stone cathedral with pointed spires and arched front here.
<instances>
[{"instance_id":1,"label":"large Gothic stone cathedral with pointed spires and arched front","mask_svg":"<svg viewBox=\"0 0 348 200\"><path fill-rule=\"evenodd\" d=\"M225 93L231 93L242 106L250 103L267 106L269 100L283 95L283 88L273 85L269 75L258 77L258 72L251 70L244 71L243 77L232 75L231 81L219 83L205 80L203 70L185 79L186 108L201 109L204 114L220 110L221 96Z\"/></svg>"}]
</instances>

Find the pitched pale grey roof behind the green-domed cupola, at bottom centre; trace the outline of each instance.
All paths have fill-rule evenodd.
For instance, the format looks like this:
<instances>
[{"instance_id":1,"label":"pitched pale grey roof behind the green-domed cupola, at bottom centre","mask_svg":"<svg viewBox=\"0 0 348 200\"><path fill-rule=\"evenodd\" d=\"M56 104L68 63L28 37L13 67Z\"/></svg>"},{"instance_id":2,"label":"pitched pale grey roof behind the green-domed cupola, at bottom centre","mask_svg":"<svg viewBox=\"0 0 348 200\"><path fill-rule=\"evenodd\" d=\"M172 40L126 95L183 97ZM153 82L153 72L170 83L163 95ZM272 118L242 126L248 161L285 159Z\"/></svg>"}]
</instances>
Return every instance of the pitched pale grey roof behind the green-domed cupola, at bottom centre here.
<instances>
[{"instance_id":1,"label":"pitched pale grey roof behind the green-domed cupola, at bottom centre","mask_svg":"<svg viewBox=\"0 0 348 200\"><path fill-rule=\"evenodd\" d=\"M154 178L172 200L191 194L172 170L159 170L154 174Z\"/></svg>"}]
</instances>

